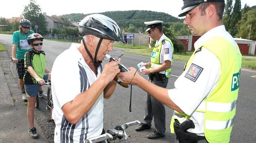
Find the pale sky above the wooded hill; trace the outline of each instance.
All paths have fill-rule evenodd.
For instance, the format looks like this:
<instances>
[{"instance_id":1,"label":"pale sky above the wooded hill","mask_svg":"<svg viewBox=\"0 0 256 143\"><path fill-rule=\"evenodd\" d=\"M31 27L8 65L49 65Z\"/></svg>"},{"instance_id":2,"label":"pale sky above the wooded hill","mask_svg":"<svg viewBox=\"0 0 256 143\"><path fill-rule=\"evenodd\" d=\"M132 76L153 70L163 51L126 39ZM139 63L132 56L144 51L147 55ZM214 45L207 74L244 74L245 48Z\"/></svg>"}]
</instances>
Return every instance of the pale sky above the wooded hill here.
<instances>
[{"instance_id":1,"label":"pale sky above the wooded hill","mask_svg":"<svg viewBox=\"0 0 256 143\"><path fill-rule=\"evenodd\" d=\"M70 13L101 13L105 11L148 10L168 13L178 17L183 6L182 0L35 0L47 15ZM226 1L226 0L225 0ZM233 0L235 1L235 0ZM154 3L155 2L155 3ZM242 8L247 3L256 5L256 0L241 0ZM4 0L1 2L0 17L19 17L29 0ZM182 17L184 18L184 17Z\"/></svg>"}]
</instances>

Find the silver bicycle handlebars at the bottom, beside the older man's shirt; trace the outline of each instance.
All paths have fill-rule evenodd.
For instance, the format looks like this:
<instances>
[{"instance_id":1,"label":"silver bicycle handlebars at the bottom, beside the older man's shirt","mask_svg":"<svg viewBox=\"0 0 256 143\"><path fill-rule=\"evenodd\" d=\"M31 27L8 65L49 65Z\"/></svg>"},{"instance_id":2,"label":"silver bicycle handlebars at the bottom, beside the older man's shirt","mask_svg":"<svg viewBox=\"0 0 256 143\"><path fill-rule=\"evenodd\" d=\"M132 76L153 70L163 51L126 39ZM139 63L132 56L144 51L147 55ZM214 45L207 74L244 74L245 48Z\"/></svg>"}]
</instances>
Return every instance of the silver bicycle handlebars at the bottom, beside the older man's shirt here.
<instances>
[{"instance_id":1,"label":"silver bicycle handlebars at the bottom, beside the older man's shirt","mask_svg":"<svg viewBox=\"0 0 256 143\"><path fill-rule=\"evenodd\" d=\"M133 122L128 122L123 124L122 126L116 126L115 129L109 129L107 130L107 133L96 136L96 137L91 137L89 139L85 140L85 143L99 143L104 141L104 143L109 143L111 140L116 140L119 139L119 142L127 140L129 135L126 134L125 129L128 128L129 126L133 126L136 124L141 124L138 120L135 120ZM124 137L124 140L121 140ZM118 143L118 142L117 142Z\"/></svg>"}]
</instances>

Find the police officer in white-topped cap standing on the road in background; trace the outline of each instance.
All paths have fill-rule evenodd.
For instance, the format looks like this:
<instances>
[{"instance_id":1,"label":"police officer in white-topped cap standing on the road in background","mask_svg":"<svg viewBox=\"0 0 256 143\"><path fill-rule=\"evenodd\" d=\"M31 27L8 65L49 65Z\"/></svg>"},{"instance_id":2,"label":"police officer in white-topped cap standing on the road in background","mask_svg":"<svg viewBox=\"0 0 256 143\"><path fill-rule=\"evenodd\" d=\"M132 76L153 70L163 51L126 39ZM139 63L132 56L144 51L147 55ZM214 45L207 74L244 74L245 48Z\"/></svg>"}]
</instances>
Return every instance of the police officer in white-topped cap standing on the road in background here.
<instances>
[{"instance_id":1,"label":"police officer in white-topped cap standing on the road in background","mask_svg":"<svg viewBox=\"0 0 256 143\"><path fill-rule=\"evenodd\" d=\"M149 81L157 86L166 88L168 78L171 75L172 53L174 46L169 38L163 34L163 21L144 22L147 26L148 35L156 40L152 51L151 60L144 63L146 69L141 70L141 75L149 76ZM145 102L144 123L141 123L135 130L141 131L151 128L154 117L156 130L147 135L148 139L157 139L165 136L165 106L147 93Z\"/></svg>"}]
</instances>

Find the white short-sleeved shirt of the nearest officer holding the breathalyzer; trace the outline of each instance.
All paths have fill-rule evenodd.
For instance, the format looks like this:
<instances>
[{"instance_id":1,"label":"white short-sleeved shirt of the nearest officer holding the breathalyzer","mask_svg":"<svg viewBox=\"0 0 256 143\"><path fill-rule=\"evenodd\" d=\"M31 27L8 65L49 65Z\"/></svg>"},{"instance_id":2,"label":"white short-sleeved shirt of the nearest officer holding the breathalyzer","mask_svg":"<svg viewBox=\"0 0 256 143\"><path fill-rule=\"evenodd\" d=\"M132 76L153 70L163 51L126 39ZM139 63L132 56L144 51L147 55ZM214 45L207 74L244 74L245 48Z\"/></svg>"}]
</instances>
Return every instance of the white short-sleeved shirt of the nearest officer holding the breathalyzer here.
<instances>
[{"instance_id":1,"label":"white short-sleeved shirt of the nearest officer holding the breathalyzer","mask_svg":"<svg viewBox=\"0 0 256 143\"><path fill-rule=\"evenodd\" d=\"M224 25L221 25L209 30L200 37L194 44L195 50L198 50L206 40L216 36L225 38L237 50L239 49L232 36L226 32ZM190 119L193 120L195 128L187 131L204 136L204 113L195 112L195 109L217 86L221 76L221 64L219 59L206 48L202 48L200 52L195 54L192 64L192 66L202 68L200 74L197 74L195 82L185 77L189 70L188 67L174 83L175 88L168 90L168 95L184 113L191 116ZM181 122L184 120L186 119Z\"/></svg>"}]
</instances>

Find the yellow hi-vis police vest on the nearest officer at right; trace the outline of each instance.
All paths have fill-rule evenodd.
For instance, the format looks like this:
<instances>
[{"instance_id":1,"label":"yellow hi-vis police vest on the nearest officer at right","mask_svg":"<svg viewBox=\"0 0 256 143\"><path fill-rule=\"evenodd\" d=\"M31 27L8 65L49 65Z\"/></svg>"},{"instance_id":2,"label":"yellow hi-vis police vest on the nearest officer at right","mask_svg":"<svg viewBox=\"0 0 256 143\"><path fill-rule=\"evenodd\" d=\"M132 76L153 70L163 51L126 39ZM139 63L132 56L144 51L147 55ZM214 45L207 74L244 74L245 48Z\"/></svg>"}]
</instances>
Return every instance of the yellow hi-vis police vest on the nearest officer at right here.
<instances>
[{"instance_id":1,"label":"yellow hi-vis police vest on the nearest officer at right","mask_svg":"<svg viewBox=\"0 0 256 143\"><path fill-rule=\"evenodd\" d=\"M228 143L236 114L242 55L228 40L220 37L204 42L202 48L210 50L220 60L221 76L216 88L195 111L205 113L204 135L209 143ZM185 69L192 64L195 52ZM179 120L190 117L174 111L170 126L172 133L174 133L174 118Z\"/></svg>"}]
</instances>

